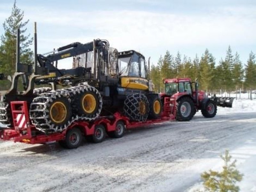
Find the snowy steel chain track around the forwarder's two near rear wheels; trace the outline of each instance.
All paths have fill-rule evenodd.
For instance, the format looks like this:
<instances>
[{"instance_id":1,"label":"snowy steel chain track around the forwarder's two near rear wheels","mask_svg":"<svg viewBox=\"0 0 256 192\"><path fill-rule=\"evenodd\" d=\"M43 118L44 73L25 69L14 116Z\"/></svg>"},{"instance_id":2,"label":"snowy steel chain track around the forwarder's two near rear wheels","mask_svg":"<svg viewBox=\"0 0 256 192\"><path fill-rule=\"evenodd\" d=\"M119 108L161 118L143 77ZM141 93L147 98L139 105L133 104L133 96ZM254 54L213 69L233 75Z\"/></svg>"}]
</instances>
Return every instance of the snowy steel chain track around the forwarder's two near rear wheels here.
<instances>
[{"instance_id":1,"label":"snowy steel chain track around the forwarder's two near rear wheels","mask_svg":"<svg viewBox=\"0 0 256 192\"><path fill-rule=\"evenodd\" d=\"M84 93L85 91L93 91L97 94L99 98L99 109L97 113L95 113L93 116L84 116L84 115L78 115L74 113L71 117L71 119L68 120L68 122L65 125L56 126L52 123L52 121L49 119L49 110L47 107L50 106L50 104L57 98L60 97L66 97L68 101L71 103L72 111L75 111L76 103L73 101L76 101L76 97ZM36 125L36 128L43 132L60 132L66 129L69 125L71 125L74 121L77 120L93 120L96 119L100 115L100 111L102 109L102 99L100 96L99 91L89 86L87 83L80 83L78 86L70 87L70 88L63 88L58 89L55 91L49 91L46 93L42 93L36 98L33 99L29 115L32 123Z\"/></svg>"}]
</instances>

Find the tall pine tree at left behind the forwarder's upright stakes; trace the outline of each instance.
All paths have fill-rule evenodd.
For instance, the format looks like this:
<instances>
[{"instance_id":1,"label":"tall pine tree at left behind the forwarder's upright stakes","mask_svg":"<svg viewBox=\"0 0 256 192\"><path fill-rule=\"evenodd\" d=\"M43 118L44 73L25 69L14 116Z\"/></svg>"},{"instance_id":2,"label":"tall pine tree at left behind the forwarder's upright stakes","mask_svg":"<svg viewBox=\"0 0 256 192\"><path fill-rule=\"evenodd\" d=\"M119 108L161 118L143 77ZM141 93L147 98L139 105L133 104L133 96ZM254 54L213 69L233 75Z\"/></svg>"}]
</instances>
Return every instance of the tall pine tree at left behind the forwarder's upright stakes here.
<instances>
[{"instance_id":1,"label":"tall pine tree at left behind the forwarder's upright stakes","mask_svg":"<svg viewBox=\"0 0 256 192\"><path fill-rule=\"evenodd\" d=\"M24 12L16 6L16 1L14 1L11 16L4 21L4 34L1 35L0 71L6 75L12 75L15 71L18 28L20 28L20 62L24 64L33 62L33 52L29 48L33 40L30 34L25 35L27 31L25 26L29 20L23 22L23 17Z\"/></svg>"}]
</instances>

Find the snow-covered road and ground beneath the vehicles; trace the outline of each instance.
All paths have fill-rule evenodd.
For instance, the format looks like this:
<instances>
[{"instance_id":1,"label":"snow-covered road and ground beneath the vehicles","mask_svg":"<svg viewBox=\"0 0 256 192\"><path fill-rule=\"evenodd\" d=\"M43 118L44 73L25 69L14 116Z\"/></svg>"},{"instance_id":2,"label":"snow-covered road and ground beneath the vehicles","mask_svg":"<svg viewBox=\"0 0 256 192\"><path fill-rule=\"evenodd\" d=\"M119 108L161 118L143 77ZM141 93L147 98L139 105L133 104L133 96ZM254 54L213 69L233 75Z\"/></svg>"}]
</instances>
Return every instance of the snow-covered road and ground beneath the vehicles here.
<instances>
[{"instance_id":1,"label":"snow-covered road and ground beneath the vehicles","mask_svg":"<svg viewBox=\"0 0 256 192\"><path fill-rule=\"evenodd\" d=\"M200 173L222 165L225 149L245 172L241 191L254 191L256 168L248 165L256 159L256 113L240 111L218 108L212 119L198 112L190 122L140 128L75 150L0 142L0 191L191 191Z\"/></svg>"}]
</instances>

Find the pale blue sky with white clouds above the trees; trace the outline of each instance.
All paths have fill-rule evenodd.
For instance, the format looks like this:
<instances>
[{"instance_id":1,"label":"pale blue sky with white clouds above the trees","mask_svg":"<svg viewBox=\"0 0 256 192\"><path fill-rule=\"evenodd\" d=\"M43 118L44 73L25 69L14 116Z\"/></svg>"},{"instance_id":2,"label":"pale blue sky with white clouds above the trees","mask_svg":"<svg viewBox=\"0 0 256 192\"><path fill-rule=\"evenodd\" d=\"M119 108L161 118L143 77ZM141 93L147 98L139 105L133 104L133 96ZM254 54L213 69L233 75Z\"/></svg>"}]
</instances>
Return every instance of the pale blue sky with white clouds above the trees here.
<instances>
[{"instance_id":1,"label":"pale blue sky with white clouds above the trees","mask_svg":"<svg viewBox=\"0 0 256 192\"><path fill-rule=\"evenodd\" d=\"M1 24L12 5L1 0ZM17 0L17 6L30 20L31 35L37 22L38 53L96 38L107 39L119 51L140 51L153 64L166 50L193 59L208 48L217 64L225 58L228 45L243 63L250 51L256 52L256 2L252 0ZM60 64L70 66L69 61Z\"/></svg>"}]
</instances>

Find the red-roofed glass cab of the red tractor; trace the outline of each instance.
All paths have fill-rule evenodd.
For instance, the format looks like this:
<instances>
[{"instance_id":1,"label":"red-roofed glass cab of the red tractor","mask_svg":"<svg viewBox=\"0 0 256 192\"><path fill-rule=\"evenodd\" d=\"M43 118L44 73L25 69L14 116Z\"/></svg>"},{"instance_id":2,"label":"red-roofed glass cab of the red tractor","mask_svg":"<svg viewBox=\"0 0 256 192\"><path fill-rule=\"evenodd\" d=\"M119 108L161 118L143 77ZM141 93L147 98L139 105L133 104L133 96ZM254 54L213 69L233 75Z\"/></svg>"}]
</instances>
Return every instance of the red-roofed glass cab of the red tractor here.
<instances>
[{"instance_id":1,"label":"red-roofed glass cab of the red tractor","mask_svg":"<svg viewBox=\"0 0 256 192\"><path fill-rule=\"evenodd\" d=\"M193 89L191 79L177 78L164 80L164 93L165 95L172 96L176 93L188 93L193 96Z\"/></svg>"}]
</instances>

